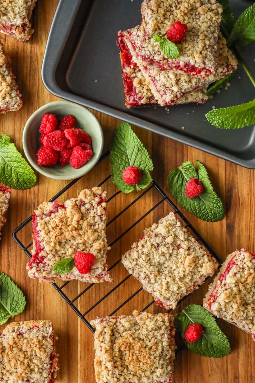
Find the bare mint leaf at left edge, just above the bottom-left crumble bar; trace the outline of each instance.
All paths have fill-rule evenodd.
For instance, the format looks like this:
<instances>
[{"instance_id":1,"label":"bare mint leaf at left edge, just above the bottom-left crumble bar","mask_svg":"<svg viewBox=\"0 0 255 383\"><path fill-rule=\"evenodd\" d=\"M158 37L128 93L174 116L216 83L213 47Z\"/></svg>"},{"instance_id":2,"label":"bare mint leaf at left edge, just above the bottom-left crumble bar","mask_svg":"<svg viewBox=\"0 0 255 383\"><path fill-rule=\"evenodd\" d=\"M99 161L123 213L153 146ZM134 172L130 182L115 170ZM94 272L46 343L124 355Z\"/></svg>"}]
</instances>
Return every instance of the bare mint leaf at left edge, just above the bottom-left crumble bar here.
<instances>
[{"instance_id":1,"label":"bare mint leaf at left edge, just above the bottom-left crumble bar","mask_svg":"<svg viewBox=\"0 0 255 383\"><path fill-rule=\"evenodd\" d=\"M23 292L6 275L0 275L0 325L22 313L26 306Z\"/></svg>"}]
</instances>

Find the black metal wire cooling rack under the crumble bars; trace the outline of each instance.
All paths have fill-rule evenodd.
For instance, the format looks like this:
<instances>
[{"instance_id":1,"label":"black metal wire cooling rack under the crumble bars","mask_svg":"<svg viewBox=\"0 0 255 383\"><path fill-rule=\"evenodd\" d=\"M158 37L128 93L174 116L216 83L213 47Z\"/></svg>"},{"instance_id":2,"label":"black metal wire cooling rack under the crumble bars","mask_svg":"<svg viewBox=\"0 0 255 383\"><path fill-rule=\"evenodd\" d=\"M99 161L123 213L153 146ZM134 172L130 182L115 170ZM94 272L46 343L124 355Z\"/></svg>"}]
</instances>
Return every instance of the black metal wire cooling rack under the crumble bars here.
<instances>
[{"instance_id":1,"label":"black metal wire cooling rack under the crumble bars","mask_svg":"<svg viewBox=\"0 0 255 383\"><path fill-rule=\"evenodd\" d=\"M102 161L103 159L105 159L107 156L109 155L109 152L106 152L104 155L102 155L100 161ZM109 175L108 177L106 177L101 183L99 183L98 186L102 186L107 180L109 180L109 178L111 177L111 175ZM81 177L80 177L81 178ZM56 195L54 195L54 197L52 197L49 201L52 202L54 200L56 200L60 195L62 195L65 191L67 191L72 185L74 185L78 180L80 180L80 178L76 178L75 180L71 181L70 183L68 183L67 186L65 186L62 190L60 190ZM127 211L128 209L130 209L132 207L132 205L134 205L136 203L136 201L138 201L140 198L142 198L146 193L148 193L149 190L153 189L158 191L159 193L159 196L161 197L161 200L159 200L158 203L156 203L156 205L154 205L151 209L149 209L145 214L143 214L143 216L141 216L136 222L134 222L128 229L126 229L122 234L120 234L120 236L118 236L117 238L114 239L114 241L112 241L109 246L112 247L116 242L118 242L125 234L127 234L132 228L134 228L136 226L136 224L138 224L143 218L145 218L149 213L151 213L154 209L156 209L159 205L161 205L164 201L166 201L171 207L172 209L174 210L174 214L177 214L186 224L186 228L188 227L190 231L193 232L193 235L194 237L196 238L197 241L200 241L207 249L208 251L210 252L211 255L213 255L219 262L219 264L222 263L221 259L218 257L218 255L213 251L213 249L210 247L210 245L205 241L205 239L203 239L203 237L201 237L201 235L197 232L197 230L192 226L192 224L188 221L188 219L184 216L184 214L182 214L182 212L177 208L177 206L175 206L175 204L170 200L170 198L164 193L164 191L159 187L159 185L153 181L151 183L151 185L149 185L148 188L146 188L145 191L141 192L139 194L139 196L137 198L135 198L135 200L133 200L128 206L126 206L123 210L121 210L114 218L112 218L108 223L107 223L107 226L109 226L113 221L115 221L115 219L119 218L119 216L121 216L121 214L123 214L125 211ZM122 193L121 191L117 191L116 193L114 193L112 196L110 196L107 200L107 202L109 202L110 200L112 200L113 198L115 198L115 196L117 196L119 193ZM29 218L26 219L26 221L24 221L23 223L21 223L18 228L16 228L14 231L13 231L13 238L14 240L16 241L16 243L19 245L19 247L21 247L21 249L25 252L26 255L28 255L29 258L31 258L31 253L29 252L29 247L32 246L32 242L29 243L28 245L24 245L21 241L19 241L18 237L17 237L17 233L24 228L24 226L26 226L30 221L32 220L32 216L30 216ZM117 262L115 262L109 269L108 271L112 270L116 265L118 265L121 261L121 258L119 260L117 260ZM81 291L80 294L78 294L75 298L73 299L70 299L68 298L68 296L63 292L63 288L68 285L68 283L70 283L71 281L67 281L65 283L63 283L63 285L60 285L58 286L57 283L52 283L52 285L54 286L54 288L58 291L58 293L64 298L64 300L69 304L69 306L75 311L75 313L80 317L80 319L86 324L86 326L88 326L88 328L94 332L94 328L93 326L91 326L91 324L89 323L89 321L86 319L86 315L91 311L93 310L98 304L100 304L104 299L107 298L107 296L109 296L111 293L113 293L113 291L115 291L117 288L119 288L120 285L122 285L122 283L124 283L128 278L131 277L131 274L129 274L127 277L125 277L121 282L119 282L116 286L114 286L114 288L112 288L107 294L105 294L101 299L99 299L97 302L95 302L93 304L93 306L91 306L89 309L86 310L85 313L81 313L80 310L76 307L76 302L78 301L78 299L86 293L86 291L88 291L93 285L94 283L91 283L89 284L86 288L84 288L83 291ZM143 290L143 287L140 287L137 291L135 291L135 293L133 293L131 296L129 296L123 303L121 303L117 308L115 308L114 311L112 311L112 313L108 314L109 316L111 315L114 315L120 308L122 308L126 303L128 303L128 301L130 301L134 296L136 296L138 293L140 293L140 291ZM184 298L182 298L179 302L181 303L183 300L185 300L187 298L187 296L185 296ZM149 304L147 304L143 309L141 309L140 311L145 311L149 306L151 306L152 304L154 303L154 300L152 300ZM168 310L167 313L170 313L170 311L172 311L172 309ZM180 350L182 350L185 346L182 346L180 347L179 349L177 349L177 352L180 352Z\"/></svg>"}]
</instances>

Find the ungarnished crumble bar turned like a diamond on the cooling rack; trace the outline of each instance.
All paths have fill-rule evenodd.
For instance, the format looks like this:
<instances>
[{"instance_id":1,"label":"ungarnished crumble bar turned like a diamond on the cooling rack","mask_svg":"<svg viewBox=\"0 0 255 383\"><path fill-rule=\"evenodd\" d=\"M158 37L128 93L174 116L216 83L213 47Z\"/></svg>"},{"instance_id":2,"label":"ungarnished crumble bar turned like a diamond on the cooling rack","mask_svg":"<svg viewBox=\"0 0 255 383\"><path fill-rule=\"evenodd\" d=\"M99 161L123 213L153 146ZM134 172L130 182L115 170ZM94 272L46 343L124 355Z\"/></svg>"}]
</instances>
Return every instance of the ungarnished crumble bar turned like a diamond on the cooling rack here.
<instances>
[{"instance_id":1,"label":"ungarnished crumble bar turned like a diamond on the cooling rack","mask_svg":"<svg viewBox=\"0 0 255 383\"><path fill-rule=\"evenodd\" d=\"M166 309L174 309L218 268L216 260L174 213L146 229L145 236L122 256L122 263L153 295L156 304Z\"/></svg>"}]
</instances>

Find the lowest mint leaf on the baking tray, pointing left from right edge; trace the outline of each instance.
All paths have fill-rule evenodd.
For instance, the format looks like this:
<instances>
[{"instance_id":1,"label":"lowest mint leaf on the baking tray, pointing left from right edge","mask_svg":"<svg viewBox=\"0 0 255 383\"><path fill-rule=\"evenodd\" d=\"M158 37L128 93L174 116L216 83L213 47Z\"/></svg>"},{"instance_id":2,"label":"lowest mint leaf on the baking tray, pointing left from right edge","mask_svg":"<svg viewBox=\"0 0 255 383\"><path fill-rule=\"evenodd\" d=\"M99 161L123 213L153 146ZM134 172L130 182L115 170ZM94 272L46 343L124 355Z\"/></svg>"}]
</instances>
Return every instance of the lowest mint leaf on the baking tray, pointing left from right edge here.
<instances>
[{"instance_id":1,"label":"lowest mint leaf on the baking tray, pointing left from right edge","mask_svg":"<svg viewBox=\"0 0 255 383\"><path fill-rule=\"evenodd\" d=\"M239 129L255 124L255 99L246 104L210 110L205 116L213 126L221 129Z\"/></svg>"}]
</instances>

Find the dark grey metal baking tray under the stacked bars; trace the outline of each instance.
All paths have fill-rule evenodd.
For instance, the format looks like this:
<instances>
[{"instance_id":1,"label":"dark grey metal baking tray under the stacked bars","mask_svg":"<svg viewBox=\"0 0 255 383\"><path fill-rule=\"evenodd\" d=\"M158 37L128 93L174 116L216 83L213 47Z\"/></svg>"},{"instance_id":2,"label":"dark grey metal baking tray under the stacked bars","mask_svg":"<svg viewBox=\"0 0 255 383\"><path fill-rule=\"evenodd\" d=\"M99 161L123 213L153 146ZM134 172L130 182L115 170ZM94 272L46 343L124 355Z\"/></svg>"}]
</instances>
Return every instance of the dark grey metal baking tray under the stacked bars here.
<instances>
[{"instance_id":1,"label":"dark grey metal baking tray under the stacked bars","mask_svg":"<svg viewBox=\"0 0 255 383\"><path fill-rule=\"evenodd\" d=\"M127 109L117 32L141 22L142 0L60 0L42 63L42 81L54 95L128 121L150 131L255 169L255 126L224 130L205 113L253 100L255 91L242 66L231 86L204 105ZM253 2L232 0L237 16ZM255 45L241 50L255 73ZM166 109L169 109L167 111ZM182 129L184 127L184 129Z\"/></svg>"}]
</instances>

